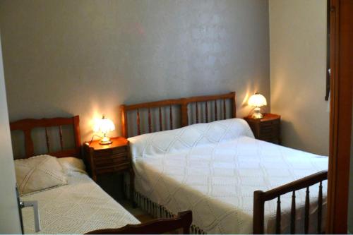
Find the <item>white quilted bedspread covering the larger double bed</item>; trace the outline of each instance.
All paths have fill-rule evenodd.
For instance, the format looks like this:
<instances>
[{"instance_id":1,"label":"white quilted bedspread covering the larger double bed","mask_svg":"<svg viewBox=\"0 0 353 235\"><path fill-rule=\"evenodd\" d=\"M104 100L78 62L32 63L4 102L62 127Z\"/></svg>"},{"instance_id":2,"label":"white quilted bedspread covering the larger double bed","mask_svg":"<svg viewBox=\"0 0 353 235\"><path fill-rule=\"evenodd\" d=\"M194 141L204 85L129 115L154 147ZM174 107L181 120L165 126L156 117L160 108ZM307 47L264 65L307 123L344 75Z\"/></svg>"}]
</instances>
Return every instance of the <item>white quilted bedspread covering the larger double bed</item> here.
<instances>
[{"instance_id":1,"label":"white quilted bedspread covering the larger double bed","mask_svg":"<svg viewBox=\"0 0 353 235\"><path fill-rule=\"evenodd\" d=\"M328 169L328 157L253 138L242 119L199 123L129 138L136 191L209 234L250 234L253 192L267 191ZM324 186L324 215L326 183ZM310 231L316 231L318 186L311 187ZM304 233L304 191L297 192L297 233ZM291 194L281 197L289 232ZM265 203L265 231L274 233L276 202Z\"/></svg>"}]
</instances>

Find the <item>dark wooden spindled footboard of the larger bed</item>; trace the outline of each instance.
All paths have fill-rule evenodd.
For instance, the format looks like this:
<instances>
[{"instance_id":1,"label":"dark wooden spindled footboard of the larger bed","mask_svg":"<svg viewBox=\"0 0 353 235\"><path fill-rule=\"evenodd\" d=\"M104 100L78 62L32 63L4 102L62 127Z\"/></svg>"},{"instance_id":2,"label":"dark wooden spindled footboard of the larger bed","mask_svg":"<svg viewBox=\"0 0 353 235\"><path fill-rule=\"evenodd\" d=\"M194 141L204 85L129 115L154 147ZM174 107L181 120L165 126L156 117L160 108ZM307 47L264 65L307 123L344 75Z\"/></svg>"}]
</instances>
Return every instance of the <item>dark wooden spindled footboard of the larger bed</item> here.
<instances>
[{"instance_id":1,"label":"dark wooden spindled footboard of the larger bed","mask_svg":"<svg viewBox=\"0 0 353 235\"><path fill-rule=\"evenodd\" d=\"M277 198L277 212L276 212L276 234L281 233L281 200L280 196L292 192L292 207L290 215L290 233L295 234L295 191L306 188L305 198L305 217L304 217L304 231L305 234L309 232L309 187L319 183L318 191L318 234L321 231L321 219L323 210L323 185L322 182L328 179L328 171L320 171L316 174L306 176L297 181L287 183L283 186L273 188L270 191L255 191L253 193L253 234L264 234L264 219L265 219L265 202Z\"/></svg>"}]
</instances>

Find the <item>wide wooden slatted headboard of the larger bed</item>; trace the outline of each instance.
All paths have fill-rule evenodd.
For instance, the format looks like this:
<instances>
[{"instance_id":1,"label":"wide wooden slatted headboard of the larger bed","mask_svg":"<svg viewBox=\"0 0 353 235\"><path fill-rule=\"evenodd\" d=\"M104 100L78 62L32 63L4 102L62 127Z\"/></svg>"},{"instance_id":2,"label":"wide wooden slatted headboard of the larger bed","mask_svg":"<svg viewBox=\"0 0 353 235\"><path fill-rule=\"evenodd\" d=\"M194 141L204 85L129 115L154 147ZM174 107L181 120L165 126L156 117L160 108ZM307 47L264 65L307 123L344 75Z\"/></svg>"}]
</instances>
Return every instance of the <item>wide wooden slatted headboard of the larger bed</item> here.
<instances>
[{"instance_id":1,"label":"wide wooden slatted headboard of the larger bed","mask_svg":"<svg viewBox=\"0 0 353 235\"><path fill-rule=\"evenodd\" d=\"M237 116L235 98L235 92L229 92L222 95L186 97L129 105L122 104L120 107L122 135L128 138L143 133L172 130L174 128L189 126L193 123L207 123L235 118ZM142 115L141 111L143 109L145 110L145 115ZM153 109L157 109L155 110L157 112L153 112ZM175 114L175 112L180 116L179 123L176 123L173 119L173 113ZM128 113L136 114L136 131L130 131L135 132L132 134L128 131L129 129L131 130ZM152 115L154 113L156 115ZM144 123L142 116L147 118L145 123L147 123L146 126L148 128L143 128L141 124ZM155 123L155 125L153 126L152 123Z\"/></svg>"}]
</instances>

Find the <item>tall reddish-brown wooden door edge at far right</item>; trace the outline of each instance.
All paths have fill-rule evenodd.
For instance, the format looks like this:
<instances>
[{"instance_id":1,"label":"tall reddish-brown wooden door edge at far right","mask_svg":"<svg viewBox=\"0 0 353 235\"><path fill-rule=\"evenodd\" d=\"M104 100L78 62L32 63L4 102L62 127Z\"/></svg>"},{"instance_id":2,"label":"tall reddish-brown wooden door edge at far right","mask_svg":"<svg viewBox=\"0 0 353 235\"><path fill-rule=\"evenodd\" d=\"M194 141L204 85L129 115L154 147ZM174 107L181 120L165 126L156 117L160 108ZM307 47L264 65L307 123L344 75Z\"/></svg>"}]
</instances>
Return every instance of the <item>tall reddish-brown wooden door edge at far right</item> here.
<instances>
[{"instance_id":1,"label":"tall reddish-brown wooden door edge at far right","mask_svg":"<svg viewBox=\"0 0 353 235\"><path fill-rule=\"evenodd\" d=\"M353 1L330 0L328 234L347 234L352 130Z\"/></svg>"}]
</instances>

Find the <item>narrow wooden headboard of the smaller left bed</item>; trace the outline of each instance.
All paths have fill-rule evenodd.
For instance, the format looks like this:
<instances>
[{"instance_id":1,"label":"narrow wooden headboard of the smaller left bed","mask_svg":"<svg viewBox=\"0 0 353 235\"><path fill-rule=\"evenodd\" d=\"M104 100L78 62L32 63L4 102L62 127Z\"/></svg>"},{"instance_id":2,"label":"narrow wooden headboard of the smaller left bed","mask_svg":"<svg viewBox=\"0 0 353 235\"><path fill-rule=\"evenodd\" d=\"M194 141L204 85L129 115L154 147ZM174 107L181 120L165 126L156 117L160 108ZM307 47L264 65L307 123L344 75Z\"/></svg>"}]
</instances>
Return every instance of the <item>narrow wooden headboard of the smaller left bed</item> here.
<instances>
[{"instance_id":1,"label":"narrow wooden headboard of the smaller left bed","mask_svg":"<svg viewBox=\"0 0 353 235\"><path fill-rule=\"evenodd\" d=\"M73 149L64 150L64 140L61 126L71 125L73 126L73 136L75 141L75 147ZM48 128L58 127L58 135L60 141L61 150L52 152L50 149L51 144L49 143ZM45 141L47 143L47 154L55 157L80 157L80 118L79 116L73 116L70 118L53 118L53 119L22 119L13 121L10 123L11 131L23 131L25 135L25 157L32 157L35 155L33 140L32 140L32 129L44 128L45 129Z\"/></svg>"}]
</instances>

